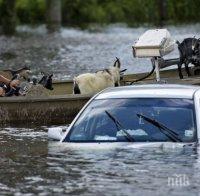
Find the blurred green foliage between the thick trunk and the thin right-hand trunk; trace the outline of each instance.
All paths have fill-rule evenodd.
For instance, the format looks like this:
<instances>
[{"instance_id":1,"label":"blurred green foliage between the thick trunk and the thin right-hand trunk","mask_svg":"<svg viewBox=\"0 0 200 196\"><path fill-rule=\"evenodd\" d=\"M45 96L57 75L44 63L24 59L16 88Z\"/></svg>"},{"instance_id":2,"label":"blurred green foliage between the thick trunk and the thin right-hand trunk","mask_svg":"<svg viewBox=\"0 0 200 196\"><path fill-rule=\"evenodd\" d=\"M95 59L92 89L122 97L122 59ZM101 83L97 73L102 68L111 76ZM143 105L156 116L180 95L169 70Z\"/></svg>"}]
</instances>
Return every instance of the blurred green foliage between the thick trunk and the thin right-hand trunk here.
<instances>
[{"instance_id":1,"label":"blurred green foliage between the thick trunk and the thin right-hand trunk","mask_svg":"<svg viewBox=\"0 0 200 196\"><path fill-rule=\"evenodd\" d=\"M141 24L154 22L155 0L63 0L63 22Z\"/></svg>"}]
</instances>

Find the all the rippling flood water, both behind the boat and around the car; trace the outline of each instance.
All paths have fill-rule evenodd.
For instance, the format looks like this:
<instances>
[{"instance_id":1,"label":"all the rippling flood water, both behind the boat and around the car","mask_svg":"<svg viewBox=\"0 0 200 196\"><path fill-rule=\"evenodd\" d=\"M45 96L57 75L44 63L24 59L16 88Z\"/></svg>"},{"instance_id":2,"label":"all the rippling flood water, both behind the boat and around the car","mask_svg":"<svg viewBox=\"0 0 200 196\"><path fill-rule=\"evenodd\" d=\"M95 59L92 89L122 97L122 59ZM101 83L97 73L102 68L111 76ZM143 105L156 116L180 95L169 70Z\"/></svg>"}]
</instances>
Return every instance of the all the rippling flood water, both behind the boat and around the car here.
<instances>
[{"instance_id":1,"label":"all the rippling flood water, both behind the boat and around the car","mask_svg":"<svg viewBox=\"0 0 200 196\"><path fill-rule=\"evenodd\" d=\"M180 41L200 37L200 24L168 29ZM131 51L145 30L63 28L47 35L43 26L19 27L17 36L0 36L0 69L28 65L34 74L69 79L112 65L117 56L128 73L148 71L149 59L133 59ZM46 128L0 129L0 195L200 195L198 149L67 149L48 141Z\"/></svg>"}]
</instances>

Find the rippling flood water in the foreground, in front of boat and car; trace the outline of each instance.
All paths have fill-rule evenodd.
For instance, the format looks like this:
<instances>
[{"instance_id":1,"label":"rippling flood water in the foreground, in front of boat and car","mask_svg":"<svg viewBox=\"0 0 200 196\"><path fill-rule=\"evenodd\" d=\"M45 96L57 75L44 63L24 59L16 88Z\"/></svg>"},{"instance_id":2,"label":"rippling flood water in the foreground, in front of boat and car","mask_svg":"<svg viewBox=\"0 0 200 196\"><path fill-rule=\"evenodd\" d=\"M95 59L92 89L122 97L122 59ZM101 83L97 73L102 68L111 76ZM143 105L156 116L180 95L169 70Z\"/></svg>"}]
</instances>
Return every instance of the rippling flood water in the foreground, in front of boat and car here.
<instances>
[{"instance_id":1,"label":"rippling flood water in the foreground, in front of boat and car","mask_svg":"<svg viewBox=\"0 0 200 196\"><path fill-rule=\"evenodd\" d=\"M160 148L68 149L44 128L0 131L0 193L198 195L200 156Z\"/></svg>"}]
</instances>

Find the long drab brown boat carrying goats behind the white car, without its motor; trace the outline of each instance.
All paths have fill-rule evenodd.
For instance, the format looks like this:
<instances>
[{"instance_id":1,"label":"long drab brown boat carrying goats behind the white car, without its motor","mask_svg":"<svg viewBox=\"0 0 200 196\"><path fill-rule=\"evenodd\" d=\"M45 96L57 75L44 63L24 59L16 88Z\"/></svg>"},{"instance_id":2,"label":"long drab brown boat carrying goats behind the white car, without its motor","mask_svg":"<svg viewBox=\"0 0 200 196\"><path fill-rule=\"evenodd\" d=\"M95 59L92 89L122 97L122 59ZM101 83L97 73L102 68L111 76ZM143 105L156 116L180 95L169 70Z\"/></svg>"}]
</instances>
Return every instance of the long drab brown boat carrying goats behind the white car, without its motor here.
<instances>
[{"instance_id":1,"label":"long drab brown boat carrying goats behind the white car, without its motor","mask_svg":"<svg viewBox=\"0 0 200 196\"><path fill-rule=\"evenodd\" d=\"M184 72L184 70L183 70ZM121 81L121 85L129 85L144 77L148 73L128 74ZM185 73L186 75L186 73ZM179 79L177 69L164 70L160 72L161 82L169 84L194 84L200 85L200 76ZM155 83L154 74L149 78L136 84ZM80 109L93 95L73 95L73 81L54 81L53 91L49 96L26 97L13 96L0 98L0 125L23 125L41 126L69 124Z\"/></svg>"}]
</instances>

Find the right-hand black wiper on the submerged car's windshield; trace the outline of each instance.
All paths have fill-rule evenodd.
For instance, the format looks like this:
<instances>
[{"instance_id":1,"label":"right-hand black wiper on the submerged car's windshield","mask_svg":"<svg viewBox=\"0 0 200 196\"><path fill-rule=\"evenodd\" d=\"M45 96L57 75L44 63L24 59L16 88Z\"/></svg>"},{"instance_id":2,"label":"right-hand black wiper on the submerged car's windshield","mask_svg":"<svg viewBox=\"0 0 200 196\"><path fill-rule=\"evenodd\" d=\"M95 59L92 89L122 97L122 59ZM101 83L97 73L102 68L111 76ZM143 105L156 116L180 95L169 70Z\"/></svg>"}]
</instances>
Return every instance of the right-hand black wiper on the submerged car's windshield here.
<instances>
[{"instance_id":1,"label":"right-hand black wiper on the submerged car's windshield","mask_svg":"<svg viewBox=\"0 0 200 196\"><path fill-rule=\"evenodd\" d=\"M169 129L168 127L166 127L165 125L163 125L162 123L151 119L147 116L144 116L142 114L136 114L139 118L143 118L145 121L151 123L152 125L156 126L159 128L160 132L162 132L165 136L167 136L170 140L172 140L173 142L182 142L182 140L178 137L178 134Z\"/></svg>"}]
</instances>

